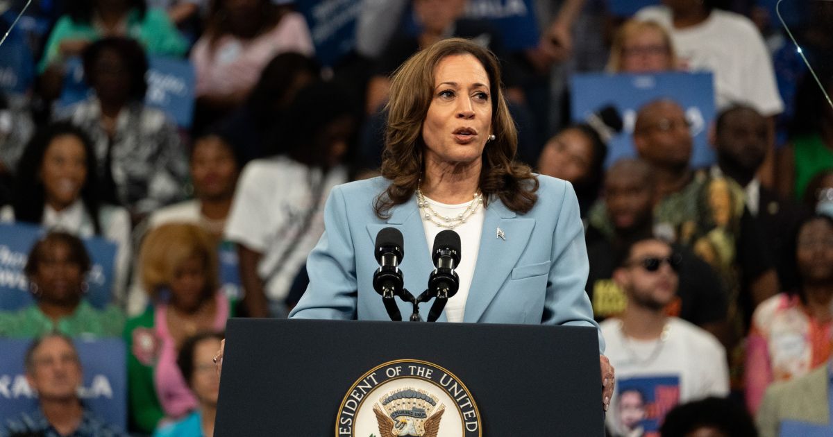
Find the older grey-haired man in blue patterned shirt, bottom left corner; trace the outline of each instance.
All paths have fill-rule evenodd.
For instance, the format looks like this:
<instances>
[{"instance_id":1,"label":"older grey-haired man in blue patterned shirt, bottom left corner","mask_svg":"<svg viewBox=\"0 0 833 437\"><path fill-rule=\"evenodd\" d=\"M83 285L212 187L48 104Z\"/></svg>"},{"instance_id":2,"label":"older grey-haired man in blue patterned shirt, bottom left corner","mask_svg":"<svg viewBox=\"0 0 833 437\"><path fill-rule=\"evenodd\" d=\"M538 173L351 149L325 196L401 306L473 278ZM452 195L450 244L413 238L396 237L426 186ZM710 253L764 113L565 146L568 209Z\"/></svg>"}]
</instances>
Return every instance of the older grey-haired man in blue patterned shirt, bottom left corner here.
<instances>
[{"instance_id":1,"label":"older grey-haired man in blue patterned shirt, bottom left corner","mask_svg":"<svg viewBox=\"0 0 833 437\"><path fill-rule=\"evenodd\" d=\"M0 436L127 436L84 409L77 393L82 384L81 361L67 336L50 334L32 342L25 365L26 380L37 392L38 409L7 420L0 426Z\"/></svg>"}]
</instances>

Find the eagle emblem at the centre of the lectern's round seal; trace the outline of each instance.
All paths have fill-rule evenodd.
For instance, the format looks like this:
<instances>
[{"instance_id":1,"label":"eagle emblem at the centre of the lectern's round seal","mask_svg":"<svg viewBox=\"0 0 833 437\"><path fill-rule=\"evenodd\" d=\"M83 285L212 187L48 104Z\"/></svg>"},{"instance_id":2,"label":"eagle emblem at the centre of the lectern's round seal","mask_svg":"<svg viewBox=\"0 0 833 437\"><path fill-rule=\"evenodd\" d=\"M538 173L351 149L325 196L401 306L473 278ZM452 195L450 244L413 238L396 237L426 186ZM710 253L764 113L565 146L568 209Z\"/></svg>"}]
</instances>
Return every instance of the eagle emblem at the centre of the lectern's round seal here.
<instances>
[{"instance_id":1,"label":"eagle emblem at the centre of the lectern's round seal","mask_svg":"<svg viewBox=\"0 0 833 437\"><path fill-rule=\"evenodd\" d=\"M388 393L373 405L380 437L436 437L445 411L436 396L414 389Z\"/></svg>"}]
</instances>

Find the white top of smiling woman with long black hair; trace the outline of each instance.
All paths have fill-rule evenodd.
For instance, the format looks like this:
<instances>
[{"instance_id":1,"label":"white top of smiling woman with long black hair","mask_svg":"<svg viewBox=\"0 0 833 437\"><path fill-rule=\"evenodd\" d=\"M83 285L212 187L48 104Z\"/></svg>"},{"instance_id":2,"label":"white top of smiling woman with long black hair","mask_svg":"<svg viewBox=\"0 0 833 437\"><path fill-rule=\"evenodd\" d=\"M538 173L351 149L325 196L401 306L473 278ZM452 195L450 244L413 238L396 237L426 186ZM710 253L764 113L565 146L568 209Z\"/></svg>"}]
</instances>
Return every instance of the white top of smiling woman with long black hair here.
<instances>
[{"instance_id":1,"label":"white top of smiling woman with long black hair","mask_svg":"<svg viewBox=\"0 0 833 437\"><path fill-rule=\"evenodd\" d=\"M0 209L0 221L15 221L11 205ZM116 259L113 263L113 303L125 305L127 274L130 271L131 241L130 215L121 206L102 205L98 207L98 223L102 227L100 237L116 244ZM55 211L46 205L43 209L41 226L48 230L65 231L80 238L96 236L92 217L79 199L62 211Z\"/></svg>"}]
</instances>

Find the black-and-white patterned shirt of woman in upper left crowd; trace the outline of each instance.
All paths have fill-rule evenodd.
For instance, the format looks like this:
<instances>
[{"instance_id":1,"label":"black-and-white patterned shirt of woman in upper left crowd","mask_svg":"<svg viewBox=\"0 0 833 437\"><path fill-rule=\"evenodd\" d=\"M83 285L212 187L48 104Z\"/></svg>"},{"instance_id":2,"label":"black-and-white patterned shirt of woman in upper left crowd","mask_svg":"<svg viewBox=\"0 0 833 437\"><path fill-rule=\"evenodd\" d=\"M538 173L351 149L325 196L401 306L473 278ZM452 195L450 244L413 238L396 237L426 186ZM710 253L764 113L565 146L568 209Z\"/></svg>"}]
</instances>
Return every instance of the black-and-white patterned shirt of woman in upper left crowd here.
<instances>
[{"instance_id":1,"label":"black-and-white patterned shirt of woman in upper left crowd","mask_svg":"<svg viewBox=\"0 0 833 437\"><path fill-rule=\"evenodd\" d=\"M112 140L102 127L101 106L94 96L57 118L68 119L92 137L99 180L112 184L102 191L114 191L115 198L105 200L147 213L184 198L188 160L176 125L164 112L128 103L118 114Z\"/></svg>"}]
</instances>

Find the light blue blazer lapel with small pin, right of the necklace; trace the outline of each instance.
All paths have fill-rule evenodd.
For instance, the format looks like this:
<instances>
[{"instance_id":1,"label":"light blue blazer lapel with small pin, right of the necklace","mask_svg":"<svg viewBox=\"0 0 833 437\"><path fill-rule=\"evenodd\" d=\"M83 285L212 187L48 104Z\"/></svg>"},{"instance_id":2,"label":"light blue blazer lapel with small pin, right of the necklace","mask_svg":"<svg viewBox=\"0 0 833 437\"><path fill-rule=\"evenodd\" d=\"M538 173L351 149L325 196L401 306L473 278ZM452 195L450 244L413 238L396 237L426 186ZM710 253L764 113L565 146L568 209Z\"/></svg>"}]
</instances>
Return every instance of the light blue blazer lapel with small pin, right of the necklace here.
<instances>
[{"instance_id":1,"label":"light blue blazer lapel with small pin, right of the necklace","mask_svg":"<svg viewBox=\"0 0 833 437\"><path fill-rule=\"evenodd\" d=\"M463 321L477 322L495 298L518 258L526 250L535 219L516 217L514 211L500 200L491 201L486 208L480 250L471 288L466 300ZM502 238L498 236L502 231Z\"/></svg>"}]
</instances>

